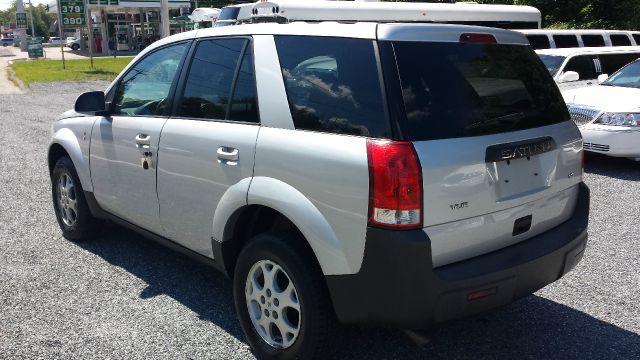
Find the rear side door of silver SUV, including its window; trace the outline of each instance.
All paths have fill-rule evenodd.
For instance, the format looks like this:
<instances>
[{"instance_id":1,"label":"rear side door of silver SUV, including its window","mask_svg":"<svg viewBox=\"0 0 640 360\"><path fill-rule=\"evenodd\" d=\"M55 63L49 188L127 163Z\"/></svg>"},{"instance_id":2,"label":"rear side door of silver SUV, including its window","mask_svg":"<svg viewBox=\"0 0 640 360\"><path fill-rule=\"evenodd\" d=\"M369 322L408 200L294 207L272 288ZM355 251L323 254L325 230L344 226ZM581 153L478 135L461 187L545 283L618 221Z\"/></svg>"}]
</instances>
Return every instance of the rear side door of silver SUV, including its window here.
<instances>
[{"instance_id":1,"label":"rear side door of silver SUV, including its window","mask_svg":"<svg viewBox=\"0 0 640 360\"><path fill-rule=\"evenodd\" d=\"M160 138L158 199L163 235L213 256L213 214L230 186L248 189L260 126L250 39L194 46Z\"/></svg>"}]
</instances>

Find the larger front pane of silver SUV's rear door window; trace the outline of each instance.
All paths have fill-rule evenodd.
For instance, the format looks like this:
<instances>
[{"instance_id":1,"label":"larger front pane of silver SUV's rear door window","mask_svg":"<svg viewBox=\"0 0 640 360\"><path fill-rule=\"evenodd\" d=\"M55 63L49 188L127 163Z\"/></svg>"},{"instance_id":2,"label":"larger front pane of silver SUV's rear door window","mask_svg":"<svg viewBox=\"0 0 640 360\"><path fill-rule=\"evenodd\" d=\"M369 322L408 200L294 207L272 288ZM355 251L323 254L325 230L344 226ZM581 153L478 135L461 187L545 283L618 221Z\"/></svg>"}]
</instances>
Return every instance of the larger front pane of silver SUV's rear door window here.
<instances>
[{"instance_id":1,"label":"larger front pane of silver SUV's rear door window","mask_svg":"<svg viewBox=\"0 0 640 360\"><path fill-rule=\"evenodd\" d=\"M246 42L246 39L213 39L198 43L178 116L226 119L233 77Z\"/></svg>"}]
</instances>

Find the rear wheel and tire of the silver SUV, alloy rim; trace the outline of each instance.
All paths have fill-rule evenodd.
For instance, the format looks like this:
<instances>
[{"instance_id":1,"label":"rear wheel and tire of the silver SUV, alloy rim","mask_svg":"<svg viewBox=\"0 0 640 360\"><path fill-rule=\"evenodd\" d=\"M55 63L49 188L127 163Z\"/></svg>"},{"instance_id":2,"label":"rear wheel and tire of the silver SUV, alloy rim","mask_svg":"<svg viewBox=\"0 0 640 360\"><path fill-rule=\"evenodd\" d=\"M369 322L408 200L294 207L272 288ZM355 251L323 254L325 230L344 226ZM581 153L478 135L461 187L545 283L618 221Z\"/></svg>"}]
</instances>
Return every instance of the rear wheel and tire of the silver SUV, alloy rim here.
<instances>
[{"instance_id":1,"label":"rear wheel and tire of the silver SUV, alloy rim","mask_svg":"<svg viewBox=\"0 0 640 360\"><path fill-rule=\"evenodd\" d=\"M329 330L336 321L326 284L313 253L296 246L299 241L293 237L260 234L241 251L236 263L233 279L236 311L247 341L259 359L330 357L328 350L333 339ZM275 279L273 286L265 282L265 274ZM268 324L269 333L261 322ZM295 329L297 334L287 331Z\"/></svg>"}]
</instances>

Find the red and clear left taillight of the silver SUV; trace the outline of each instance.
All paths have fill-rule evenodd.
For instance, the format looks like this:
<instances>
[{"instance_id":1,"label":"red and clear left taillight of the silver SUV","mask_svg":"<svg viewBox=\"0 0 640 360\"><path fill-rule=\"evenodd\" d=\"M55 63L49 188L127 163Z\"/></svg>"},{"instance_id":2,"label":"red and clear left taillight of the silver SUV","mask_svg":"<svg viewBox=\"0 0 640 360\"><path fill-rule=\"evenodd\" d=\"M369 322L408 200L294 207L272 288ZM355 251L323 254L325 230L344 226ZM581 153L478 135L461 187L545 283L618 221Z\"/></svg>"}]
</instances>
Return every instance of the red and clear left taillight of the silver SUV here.
<instances>
[{"instance_id":1,"label":"red and clear left taillight of the silver SUV","mask_svg":"<svg viewBox=\"0 0 640 360\"><path fill-rule=\"evenodd\" d=\"M413 144L367 140L369 225L422 227L422 171Z\"/></svg>"}]
</instances>

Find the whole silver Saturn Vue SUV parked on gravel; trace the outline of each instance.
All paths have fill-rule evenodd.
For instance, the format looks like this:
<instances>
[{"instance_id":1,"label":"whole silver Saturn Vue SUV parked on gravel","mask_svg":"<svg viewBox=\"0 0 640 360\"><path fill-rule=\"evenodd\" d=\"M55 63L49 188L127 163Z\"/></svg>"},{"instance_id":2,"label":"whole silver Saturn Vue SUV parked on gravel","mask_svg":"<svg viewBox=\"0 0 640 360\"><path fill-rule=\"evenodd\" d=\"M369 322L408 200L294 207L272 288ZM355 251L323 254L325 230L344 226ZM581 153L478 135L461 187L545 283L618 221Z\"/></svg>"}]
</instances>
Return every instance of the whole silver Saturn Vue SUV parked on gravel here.
<instances>
[{"instance_id":1,"label":"whole silver Saturn Vue SUV parked on gravel","mask_svg":"<svg viewBox=\"0 0 640 360\"><path fill-rule=\"evenodd\" d=\"M582 139L518 33L254 24L178 34L53 125L67 239L100 220L233 279L263 358L326 357L332 322L424 328L582 258Z\"/></svg>"}]
</instances>

